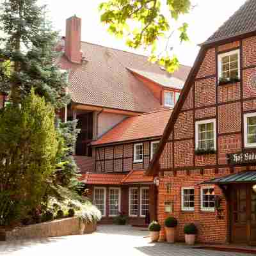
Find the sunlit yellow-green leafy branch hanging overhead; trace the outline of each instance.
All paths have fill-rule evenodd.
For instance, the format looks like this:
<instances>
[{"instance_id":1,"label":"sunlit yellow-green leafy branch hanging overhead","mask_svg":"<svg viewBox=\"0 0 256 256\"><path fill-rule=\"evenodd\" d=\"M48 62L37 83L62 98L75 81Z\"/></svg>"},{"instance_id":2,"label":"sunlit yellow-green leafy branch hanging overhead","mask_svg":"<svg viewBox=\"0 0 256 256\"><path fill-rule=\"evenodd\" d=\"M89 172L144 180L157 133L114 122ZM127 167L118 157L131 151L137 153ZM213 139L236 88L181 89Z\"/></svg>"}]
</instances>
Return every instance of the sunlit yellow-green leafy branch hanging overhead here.
<instances>
[{"instance_id":1,"label":"sunlit yellow-green leafy branch hanging overhead","mask_svg":"<svg viewBox=\"0 0 256 256\"><path fill-rule=\"evenodd\" d=\"M175 28L180 15L189 13L189 0L109 0L99 6L101 21L108 25L109 33L127 38L129 47L150 49L150 61L157 62L169 72L179 67L179 61L170 54L168 44L173 31L179 33L180 42L188 41L188 24ZM170 33L172 31L172 33ZM168 32L170 35L167 35ZM164 51L157 54L157 42L166 39Z\"/></svg>"}]
</instances>

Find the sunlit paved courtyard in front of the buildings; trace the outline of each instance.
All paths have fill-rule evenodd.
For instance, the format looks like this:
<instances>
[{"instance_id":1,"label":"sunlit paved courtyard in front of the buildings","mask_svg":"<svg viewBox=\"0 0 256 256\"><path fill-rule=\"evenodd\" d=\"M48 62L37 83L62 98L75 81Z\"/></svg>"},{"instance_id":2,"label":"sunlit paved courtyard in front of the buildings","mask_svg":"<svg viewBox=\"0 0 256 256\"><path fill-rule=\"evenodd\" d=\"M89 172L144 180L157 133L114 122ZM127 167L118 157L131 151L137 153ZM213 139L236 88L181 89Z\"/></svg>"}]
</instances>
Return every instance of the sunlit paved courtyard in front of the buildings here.
<instances>
[{"instance_id":1,"label":"sunlit paved courtyard in front of the buildings","mask_svg":"<svg viewBox=\"0 0 256 256\"><path fill-rule=\"evenodd\" d=\"M50 237L0 242L0 255L111 255L111 256L242 256L244 253L216 252L183 244L150 243L147 230L129 226L100 225L97 232L83 236Z\"/></svg>"}]
</instances>

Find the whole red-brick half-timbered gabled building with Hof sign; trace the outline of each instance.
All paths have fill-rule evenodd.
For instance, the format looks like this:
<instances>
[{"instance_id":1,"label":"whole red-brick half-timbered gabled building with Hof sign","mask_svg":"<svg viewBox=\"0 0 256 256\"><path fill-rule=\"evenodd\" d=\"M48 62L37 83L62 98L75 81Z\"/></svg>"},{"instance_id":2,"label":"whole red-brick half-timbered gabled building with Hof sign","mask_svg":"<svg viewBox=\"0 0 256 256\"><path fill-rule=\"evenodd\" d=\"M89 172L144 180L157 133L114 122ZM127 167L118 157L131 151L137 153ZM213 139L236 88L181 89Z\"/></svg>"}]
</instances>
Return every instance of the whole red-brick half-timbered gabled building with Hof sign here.
<instances>
[{"instance_id":1,"label":"whole red-brick half-timbered gabled building with Hof sign","mask_svg":"<svg viewBox=\"0 0 256 256\"><path fill-rule=\"evenodd\" d=\"M246 1L201 45L148 168L158 220L175 216L180 241L195 223L199 242L256 243L255 30Z\"/></svg>"}]
</instances>

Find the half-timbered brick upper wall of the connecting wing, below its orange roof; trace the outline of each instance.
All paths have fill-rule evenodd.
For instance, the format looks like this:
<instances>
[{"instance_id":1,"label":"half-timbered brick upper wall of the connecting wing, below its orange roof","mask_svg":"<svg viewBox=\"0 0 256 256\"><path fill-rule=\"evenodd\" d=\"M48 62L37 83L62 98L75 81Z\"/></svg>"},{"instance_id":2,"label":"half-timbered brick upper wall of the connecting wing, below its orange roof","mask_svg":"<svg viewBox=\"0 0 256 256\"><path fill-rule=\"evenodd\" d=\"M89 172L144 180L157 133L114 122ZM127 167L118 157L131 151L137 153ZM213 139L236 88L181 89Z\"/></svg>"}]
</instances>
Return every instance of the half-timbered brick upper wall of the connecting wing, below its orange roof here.
<instances>
[{"instance_id":1,"label":"half-timbered brick upper wall of the connecting wing, below its orange roof","mask_svg":"<svg viewBox=\"0 0 256 256\"><path fill-rule=\"evenodd\" d=\"M130 172L131 170L147 169L150 162L151 142L160 138L152 138L147 141L124 143L121 145L109 145L93 147L95 156L95 172ZM134 163L134 144L143 143L143 161Z\"/></svg>"}]
</instances>

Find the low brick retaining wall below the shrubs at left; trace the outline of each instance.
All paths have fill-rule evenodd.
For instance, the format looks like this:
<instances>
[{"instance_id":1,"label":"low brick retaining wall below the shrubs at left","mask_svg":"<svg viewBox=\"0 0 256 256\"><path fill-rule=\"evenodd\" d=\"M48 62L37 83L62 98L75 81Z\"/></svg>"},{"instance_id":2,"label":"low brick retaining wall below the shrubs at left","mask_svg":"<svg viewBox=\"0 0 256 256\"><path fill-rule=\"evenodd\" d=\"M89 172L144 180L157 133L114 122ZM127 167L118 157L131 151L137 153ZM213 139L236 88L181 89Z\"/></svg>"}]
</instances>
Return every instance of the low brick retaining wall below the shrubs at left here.
<instances>
[{"instance_id":1,"label":"low brick retaining wall below the shrubs at left","mask_svg":"<svg viewBox=\"0 0 256 256\"><path fill-rule=\"evenodd\" d=\"M97 224L87 224L84 234L90 234L97 228ZM69 236L80 234L80 220L77 217L54 220L50 222L17 227L11 231L0 231L0 241L17 239L31 239L51 236Z\"/></svg>"}]
</instances>

